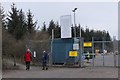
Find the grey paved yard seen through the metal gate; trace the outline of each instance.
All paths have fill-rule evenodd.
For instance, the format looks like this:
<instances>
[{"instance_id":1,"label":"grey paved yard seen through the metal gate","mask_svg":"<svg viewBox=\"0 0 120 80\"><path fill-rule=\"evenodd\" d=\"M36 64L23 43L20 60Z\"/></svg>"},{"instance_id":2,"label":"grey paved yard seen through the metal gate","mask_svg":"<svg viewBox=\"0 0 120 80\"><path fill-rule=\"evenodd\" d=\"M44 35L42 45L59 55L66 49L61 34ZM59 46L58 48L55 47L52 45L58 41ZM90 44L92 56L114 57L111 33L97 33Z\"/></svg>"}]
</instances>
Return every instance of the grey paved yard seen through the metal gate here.
<instances>
[{"instance_id":1,"label":"grey paved yard seen through the metal gate","mask_svg":"<svg viewBox=\"0 0 120 80\"><path fill-rule=\"evenodd\" d=\"M117 67L118 66L118 55L115 54L100 54L97 55L94 59L90 59L90 63L86 63L84 60L84 66L88 67Z\"/></svg>"}]
</instances>

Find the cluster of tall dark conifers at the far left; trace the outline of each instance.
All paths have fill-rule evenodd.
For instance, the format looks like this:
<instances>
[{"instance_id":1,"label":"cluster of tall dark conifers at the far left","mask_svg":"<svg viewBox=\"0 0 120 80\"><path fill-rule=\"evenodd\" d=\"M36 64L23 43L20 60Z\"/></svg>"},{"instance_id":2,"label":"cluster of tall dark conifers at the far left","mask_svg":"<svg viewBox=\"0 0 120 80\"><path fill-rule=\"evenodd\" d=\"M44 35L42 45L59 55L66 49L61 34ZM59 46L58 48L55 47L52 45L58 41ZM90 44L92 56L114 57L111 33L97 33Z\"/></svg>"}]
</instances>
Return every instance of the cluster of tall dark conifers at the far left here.
<instances>
[{"instance_id":1,"label":"cluster of tall dark conifers at the far left","mask_svg":"<svg viewBox=\"0 0 120 80\"><path fill-rule=\"evenodd\" d=\"M21 39L25 34L35 32L37 22L33 22L33 14L30 10L27 12L27 18L22 9L17 9L15 4L11 5L11 12L5 16L2 9L3 29L13 35L16 40Z\"/></svg>"}]
</instances>

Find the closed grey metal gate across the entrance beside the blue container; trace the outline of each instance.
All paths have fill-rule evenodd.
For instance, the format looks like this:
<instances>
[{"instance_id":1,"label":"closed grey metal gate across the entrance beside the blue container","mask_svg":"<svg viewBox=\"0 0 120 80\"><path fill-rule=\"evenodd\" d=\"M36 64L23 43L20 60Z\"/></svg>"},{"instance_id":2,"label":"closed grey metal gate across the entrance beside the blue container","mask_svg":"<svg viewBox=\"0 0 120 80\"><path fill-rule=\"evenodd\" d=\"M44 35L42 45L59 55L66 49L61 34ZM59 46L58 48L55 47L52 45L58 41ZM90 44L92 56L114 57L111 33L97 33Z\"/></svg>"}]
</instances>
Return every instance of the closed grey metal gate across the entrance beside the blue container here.
<instances>
[{"instance_id":1,"label":"closed grey metal gate across the entrance beside the blue container","mask_svg":"<svg viewBox=\"0 0 120 80\"><path fill-rule=\"evenodd\" d=\"M87 43L87 42L84 42ZM83 43L83 44L84 44ZM83 45L84 50L82 53L82 56L84 58L82 59L83 66L86 67L117 67L118 66L118 43L117 40L114 41L94 41L94 38L92 38L92 41L88 42L89 47L85 47ZM90 45L92 43L92 45ZM110 44L106 46L107 44ZM101 45L101 49L99 49L99 52L96 53L96 44ZM87 49L86 49L87 48ZM107 50L109 49L109 50ZM110 50L112 49L112 50ZM87 60L85 59L86 50L90 52L90 56L92 56L92 59L90 59L89 63L87 63ZM95 56L95 57L94 57Z\"/></svg>"}]
</instances>

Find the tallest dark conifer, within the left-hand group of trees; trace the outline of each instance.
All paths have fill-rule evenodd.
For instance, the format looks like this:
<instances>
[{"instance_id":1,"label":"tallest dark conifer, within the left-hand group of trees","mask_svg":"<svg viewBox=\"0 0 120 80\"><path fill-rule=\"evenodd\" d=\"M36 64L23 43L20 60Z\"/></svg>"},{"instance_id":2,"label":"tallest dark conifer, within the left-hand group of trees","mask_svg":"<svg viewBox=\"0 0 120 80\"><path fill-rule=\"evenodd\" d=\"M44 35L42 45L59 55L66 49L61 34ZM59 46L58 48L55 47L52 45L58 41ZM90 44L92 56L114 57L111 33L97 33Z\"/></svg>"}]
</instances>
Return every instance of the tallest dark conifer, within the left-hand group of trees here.
<instances>
[{"instance_id":1,"label":"tallest dark conifer, within the left-hand group of trees","mask_svg":"<svg viewBox=\"0 0 120 80\"><path fill-rule=\"evenodd\" d=\"M26 23L25 16L23 14L22 9L17 10L15 4L11 5L12 12L9 12L8 15L8 32L12 34L17 40L21 39L23 35L26 33Z\"/></svg>"}]
</instances>

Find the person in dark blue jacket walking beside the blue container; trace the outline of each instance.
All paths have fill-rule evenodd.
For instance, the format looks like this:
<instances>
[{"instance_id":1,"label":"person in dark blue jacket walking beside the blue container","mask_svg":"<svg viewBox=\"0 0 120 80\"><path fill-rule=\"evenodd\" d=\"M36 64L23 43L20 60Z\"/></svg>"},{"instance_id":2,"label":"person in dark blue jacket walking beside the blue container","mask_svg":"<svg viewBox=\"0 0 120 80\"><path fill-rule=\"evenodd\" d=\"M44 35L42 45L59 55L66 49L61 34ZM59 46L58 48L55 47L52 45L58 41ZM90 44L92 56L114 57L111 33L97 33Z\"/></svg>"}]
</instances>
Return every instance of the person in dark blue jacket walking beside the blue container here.
<instances>
[{"instance_id":1,"label":"person in dark blue jacket walking beside the blue container","mask_svg":"<svg viewBox=\"0 0 120 80\"><path fill-rule=\"evenodd\" d=\"M48 59L49 59L49 55L46 51L43 51L43 55L42 55L42 70L48 70Z\"/></svg>"}]
</instances>

